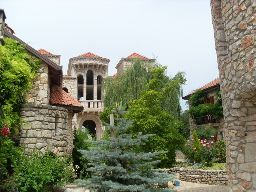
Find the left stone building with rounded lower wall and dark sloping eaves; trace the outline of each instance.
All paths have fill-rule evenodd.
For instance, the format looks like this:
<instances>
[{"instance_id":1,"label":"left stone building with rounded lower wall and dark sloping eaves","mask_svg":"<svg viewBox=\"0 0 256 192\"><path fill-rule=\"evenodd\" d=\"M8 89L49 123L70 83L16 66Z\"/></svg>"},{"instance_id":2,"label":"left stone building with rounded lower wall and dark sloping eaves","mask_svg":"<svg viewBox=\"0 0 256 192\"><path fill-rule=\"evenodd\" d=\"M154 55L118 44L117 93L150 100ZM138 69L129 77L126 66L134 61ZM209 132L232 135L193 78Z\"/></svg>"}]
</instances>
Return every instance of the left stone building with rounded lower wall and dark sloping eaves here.
<instances>
[{"instance_id":1,"label":"left stone building with rounded lower wall and dark sloping eaves","mask_svg":"<svg viewBox=\"0 0 256 192\"><path fill-rule=\"evenodd\" d=\"M58 60L60 57L44 56L45 53L41 54L16 37L14 31L6 25L1 33L4 37L18 41L28 54L40 60L38 76L31 91L27 93L27 103L20 109L24 123L19 127L16 138L19 146L25 147L26 152L36 148L42 153L50 150L56 155L71 155L72 117L82 111L83 106L62 89L62 66L59 66Z\"/></svg>"}]
</instances>

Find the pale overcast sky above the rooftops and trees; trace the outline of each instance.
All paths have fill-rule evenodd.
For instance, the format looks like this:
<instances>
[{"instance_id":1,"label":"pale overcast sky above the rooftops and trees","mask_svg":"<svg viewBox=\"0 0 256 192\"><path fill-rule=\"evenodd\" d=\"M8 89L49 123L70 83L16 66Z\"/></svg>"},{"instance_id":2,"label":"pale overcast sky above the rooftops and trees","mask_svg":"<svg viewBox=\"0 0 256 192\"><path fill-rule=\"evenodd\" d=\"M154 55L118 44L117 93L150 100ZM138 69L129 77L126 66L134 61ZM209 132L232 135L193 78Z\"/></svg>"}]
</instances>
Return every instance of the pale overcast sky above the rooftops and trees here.
<instances>
[{"instance_id":1,"label":"pale overcast sky above the rooftops and trees","mask_svg":"<svg viewBox=\"0 0 256 192\"><path fill-rule=\"evenodd\" d=\"M110 59L109 75L133 52L186 72L184 96L218 77L210 0L1 0L15 35L34 49ZM185 101L181 101L185 110Z\"/></svg>"}]
</instances>

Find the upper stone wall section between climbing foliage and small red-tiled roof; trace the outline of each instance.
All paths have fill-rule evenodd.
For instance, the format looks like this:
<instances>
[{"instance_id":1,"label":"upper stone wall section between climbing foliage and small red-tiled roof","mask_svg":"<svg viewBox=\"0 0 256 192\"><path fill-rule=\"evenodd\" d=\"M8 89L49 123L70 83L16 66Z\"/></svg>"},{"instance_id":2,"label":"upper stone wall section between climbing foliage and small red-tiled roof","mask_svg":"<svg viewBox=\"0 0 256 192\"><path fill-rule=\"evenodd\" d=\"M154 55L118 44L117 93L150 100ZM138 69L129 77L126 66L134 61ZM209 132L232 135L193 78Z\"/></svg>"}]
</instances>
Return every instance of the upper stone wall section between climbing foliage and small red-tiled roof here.
<instances>
[{"instance_id":1,"label":"upper stone wall section between climbing foliage and small red-tiled roof","mask_svg":"<svg viewBox=\"0 0 256 192\"><path fill-rule=\"evenodd\" d=\"M26 101L37 105L48 105L50 99L50 86L48 82L48 64L41 61L38 76L33 82L32 90L26 95Z\"/></svg>"}]
</instances>

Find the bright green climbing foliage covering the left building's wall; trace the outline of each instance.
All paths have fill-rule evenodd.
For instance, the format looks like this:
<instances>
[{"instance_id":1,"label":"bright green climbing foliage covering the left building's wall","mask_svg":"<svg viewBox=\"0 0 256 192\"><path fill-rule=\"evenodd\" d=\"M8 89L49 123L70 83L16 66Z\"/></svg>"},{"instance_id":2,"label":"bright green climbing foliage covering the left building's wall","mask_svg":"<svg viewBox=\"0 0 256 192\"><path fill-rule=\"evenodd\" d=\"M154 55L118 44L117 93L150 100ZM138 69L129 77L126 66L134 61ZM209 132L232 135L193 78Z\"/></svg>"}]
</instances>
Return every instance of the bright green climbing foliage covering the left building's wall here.
<instances>
[{"instance_id":1,"label":"bright green climbing foliage covering the left building's wall","mask_svg":"<svg viewBox=\"0 0 256 192\"><path fill-rule=\"evenodd\" d=\"M31 90L40 64L18 41L4 40L5 46L0 45L0 103L5 119L0 119L0 126L8 124L12 135L20 124L19 109L25 103L26 92Z\"/></svg>"}]
</instances>

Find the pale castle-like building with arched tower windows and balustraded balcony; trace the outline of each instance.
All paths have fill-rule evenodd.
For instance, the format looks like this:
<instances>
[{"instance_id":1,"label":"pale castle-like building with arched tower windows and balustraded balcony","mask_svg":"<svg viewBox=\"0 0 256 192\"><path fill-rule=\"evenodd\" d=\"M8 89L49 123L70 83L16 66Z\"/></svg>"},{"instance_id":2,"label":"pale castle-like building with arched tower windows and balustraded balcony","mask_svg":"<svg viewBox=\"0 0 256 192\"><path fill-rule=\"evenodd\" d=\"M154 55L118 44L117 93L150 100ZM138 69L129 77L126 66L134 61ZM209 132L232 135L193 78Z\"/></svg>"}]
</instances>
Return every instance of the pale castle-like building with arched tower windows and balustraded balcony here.
<instances>
[{"instance_id":1,"label":"pale castle-like building with arched tower windows and balustraded balcony","mask_svg":"<svg viewBox=\"0 0 256 192\"><path fill-rule=\"evenodd\" d=\"M154 64L138 53L122 58L117 64L117 72L133 65L133 59L142 59L143 62ZM69 59L67 75L63 76L63 90L76 98L83 106L83 112L76 113L73 123L76 127L88 127L90 133L100 139L105 127L99 120L99 113L103 111L102 81L108 77L109 59L93 53L85 53ZM117 74L113 75L115 77Z\"/></svg>"}]
</instances>

